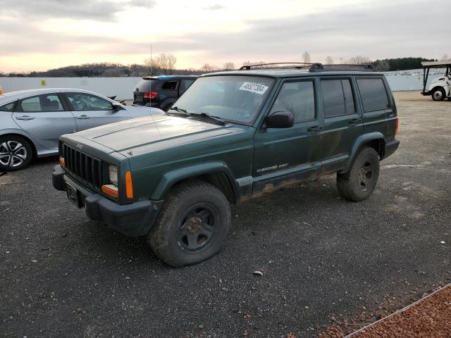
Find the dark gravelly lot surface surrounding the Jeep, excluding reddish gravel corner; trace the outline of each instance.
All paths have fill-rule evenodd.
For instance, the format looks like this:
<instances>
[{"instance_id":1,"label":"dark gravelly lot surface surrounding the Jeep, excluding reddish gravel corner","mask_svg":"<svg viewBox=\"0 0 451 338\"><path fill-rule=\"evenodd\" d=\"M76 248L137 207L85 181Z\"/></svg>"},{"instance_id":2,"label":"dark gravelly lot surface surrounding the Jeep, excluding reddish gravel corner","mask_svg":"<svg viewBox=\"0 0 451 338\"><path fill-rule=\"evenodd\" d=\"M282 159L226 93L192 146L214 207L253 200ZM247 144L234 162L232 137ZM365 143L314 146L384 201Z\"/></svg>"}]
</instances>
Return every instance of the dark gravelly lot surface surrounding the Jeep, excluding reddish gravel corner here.
<instances>
[{"instance_id":1,"label":"dark gravelly lot surface surrounding the Jeep, excluding reddish gravel corner","mask_svg":"<svg viewBox=\"0 0 451 338\"><path fill-rule=\"evenodd\" d=\"M451 102L395 98L401 146L370 199L340 199L335 177L267 194L233 208L225 249L187 268L72 206L51 187L56 158L0 177L0 335L317 337L447 284Z\"/></svg>"}]
</instances>

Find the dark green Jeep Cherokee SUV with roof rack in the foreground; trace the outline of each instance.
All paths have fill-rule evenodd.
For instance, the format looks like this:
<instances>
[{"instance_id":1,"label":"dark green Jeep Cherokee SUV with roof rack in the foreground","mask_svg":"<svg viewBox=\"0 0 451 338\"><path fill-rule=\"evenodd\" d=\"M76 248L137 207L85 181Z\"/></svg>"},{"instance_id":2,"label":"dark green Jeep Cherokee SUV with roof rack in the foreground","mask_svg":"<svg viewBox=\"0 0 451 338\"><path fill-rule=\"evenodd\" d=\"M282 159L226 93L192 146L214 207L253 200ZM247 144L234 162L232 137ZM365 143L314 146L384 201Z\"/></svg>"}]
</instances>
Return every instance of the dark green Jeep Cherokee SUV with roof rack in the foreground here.
<instances>
[{"instance_id":1,"label":"dark green Jeep Cherokee SUV with roof rack in the foreground","mask_svg":"<svg viewBox=\"0 0 451 338\"><path fill-rule=\"evenodd\" d=\"M63 135L53 184L187 265L221 248L230 204L329 173L345 199L366 199L397 125L383 74L367 66L245 66L199 77L164 115Z\"/></svg>"}]
</instances>

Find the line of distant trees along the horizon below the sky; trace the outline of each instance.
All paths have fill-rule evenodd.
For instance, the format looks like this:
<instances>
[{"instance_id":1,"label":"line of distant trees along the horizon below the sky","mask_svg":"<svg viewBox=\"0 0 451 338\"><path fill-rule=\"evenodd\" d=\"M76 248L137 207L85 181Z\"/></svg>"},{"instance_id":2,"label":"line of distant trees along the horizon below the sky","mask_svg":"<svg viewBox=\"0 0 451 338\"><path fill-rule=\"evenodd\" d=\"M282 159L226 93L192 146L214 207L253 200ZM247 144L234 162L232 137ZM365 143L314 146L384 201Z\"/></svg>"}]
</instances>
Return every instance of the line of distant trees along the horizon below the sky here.
<instances>
[{"instance_id":1,"label":"line of distant trees along the horizon below the sky","mask_svg":"<svg viewBox=\"0 0 451 338\"><path fill-rule=\"evenodd\" d=\"M442 60L447 60L445 54ZM308 51L302 54L302 61L310 63L311 58ZM428 58L384 58L382 60L371 61L366 56L354 56L349 59L339 58L338 64L371 64L381 72L393 70L409 70L421 68L421 61L436 61ZM32 71L30 73L2 73L0 76L9 77L142 77L154 75L200 75L221 70L235 70L237 67L233 62L227 62L223 65L212 65L204 63L200 68L177 69L175 67L177 58L174 54L159 54L154 58L146 58L144 64L122 65L120 63L86 63L84 65L70 65L68 67L56 68L44 72ZM242 65L257 65L266 63L265 61L245 61ZM331 56L324 60L325 64L333 65L335 61ZM240 66L239 66L240 67ZM239 68L238 67L238 68Z\"/></svg>"}]
</instances>

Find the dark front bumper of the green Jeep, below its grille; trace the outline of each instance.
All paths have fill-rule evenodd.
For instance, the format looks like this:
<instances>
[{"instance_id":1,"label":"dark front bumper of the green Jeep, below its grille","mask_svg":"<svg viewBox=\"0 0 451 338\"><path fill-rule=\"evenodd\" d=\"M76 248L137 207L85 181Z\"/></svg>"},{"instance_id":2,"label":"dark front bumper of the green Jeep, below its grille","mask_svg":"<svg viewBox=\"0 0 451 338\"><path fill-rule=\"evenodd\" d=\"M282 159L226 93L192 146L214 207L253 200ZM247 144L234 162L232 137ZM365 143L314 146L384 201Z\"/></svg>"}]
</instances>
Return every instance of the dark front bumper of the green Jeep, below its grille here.
<instances>
[{"instance_id":1,"label":"dark front bumper of the green Jeep, below its grille","mask_svg":"<svg viewBox=\"0 0 451 338\"><path fill-rule=\"evenodd\" d=\"M117 204L92 192L68 176L61 165L55 165L52 173L54 188L66 191L68 185L76 190L78 207L85 206L92 220L102 220L113 229L127 236L143 236L155 223L163 201L139 201L132 204ZM69 195L69 194L68 194ZM69 196L68 196L69 198ZM71 199L71 198L69 198Z\"/></svg>"}]
</instances>

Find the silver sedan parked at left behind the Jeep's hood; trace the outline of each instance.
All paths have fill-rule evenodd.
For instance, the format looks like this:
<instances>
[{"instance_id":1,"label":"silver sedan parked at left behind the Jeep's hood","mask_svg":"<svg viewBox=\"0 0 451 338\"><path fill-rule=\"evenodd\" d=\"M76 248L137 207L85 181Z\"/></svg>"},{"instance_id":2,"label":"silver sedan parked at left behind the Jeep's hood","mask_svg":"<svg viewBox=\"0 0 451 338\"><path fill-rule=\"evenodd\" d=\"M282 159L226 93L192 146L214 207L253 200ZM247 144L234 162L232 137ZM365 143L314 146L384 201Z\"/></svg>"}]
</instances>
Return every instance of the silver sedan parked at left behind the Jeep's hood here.
<instances>
[{"instance_id":1,"label":"silver sedan parked at left behind the Jeep's hood","mask_svg":"<svg viewBox=\"0 0 451 338\"><path fill-rule=\"evenodd\" d=\"M34 156L58 154L62 134L164 113L124 106L80 89L30 89L0 95L0 172L20 170Z\"/></svg>"}]
</instances>

